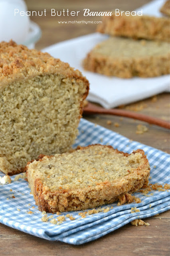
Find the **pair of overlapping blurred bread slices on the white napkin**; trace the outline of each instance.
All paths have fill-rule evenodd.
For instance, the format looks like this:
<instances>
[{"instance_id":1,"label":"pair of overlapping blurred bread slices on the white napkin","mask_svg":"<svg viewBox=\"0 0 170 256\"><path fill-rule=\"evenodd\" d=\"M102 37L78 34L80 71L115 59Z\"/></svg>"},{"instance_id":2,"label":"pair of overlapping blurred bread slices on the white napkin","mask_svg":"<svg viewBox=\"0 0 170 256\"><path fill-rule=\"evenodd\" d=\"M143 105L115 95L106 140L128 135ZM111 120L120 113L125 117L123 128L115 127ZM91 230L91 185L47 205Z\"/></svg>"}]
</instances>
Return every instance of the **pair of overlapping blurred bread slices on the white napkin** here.
<instances>
[{"instance_id":1,"label":"pair of overlapping blurred bread slices on the white napkin","mask_svg":"<svg viewBox=\"0 0 170 256\"><path fill-rule=\"evenodd\" d=\"M170 73L169 18L113 13L103 17L97 31L110 37L87 54L85 70L121 78Z\"/></svg>"}]
</instances>

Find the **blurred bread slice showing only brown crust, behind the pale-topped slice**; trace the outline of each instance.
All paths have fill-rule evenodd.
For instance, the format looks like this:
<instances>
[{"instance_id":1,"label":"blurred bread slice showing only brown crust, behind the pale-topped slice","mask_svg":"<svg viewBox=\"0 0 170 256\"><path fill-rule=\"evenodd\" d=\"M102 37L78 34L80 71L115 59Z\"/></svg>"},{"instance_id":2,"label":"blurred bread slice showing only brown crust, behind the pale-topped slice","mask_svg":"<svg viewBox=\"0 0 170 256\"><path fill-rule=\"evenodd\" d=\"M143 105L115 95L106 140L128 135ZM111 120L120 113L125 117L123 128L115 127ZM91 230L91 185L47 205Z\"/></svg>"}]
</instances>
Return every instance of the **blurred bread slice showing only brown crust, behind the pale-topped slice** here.
<instances>
[{"instance_id":1,"label":"blurred bread slice showing only brown crust, behind the pale-topped slice","mask_svg":"<svg viewBox=\"0 0 170 256\"><path fill-rule=\"evenodd\" d=\"M97 31L111 36L127 36L170 42L170 19L152 16L103 16Z\"/></svg>"}]
</instances>

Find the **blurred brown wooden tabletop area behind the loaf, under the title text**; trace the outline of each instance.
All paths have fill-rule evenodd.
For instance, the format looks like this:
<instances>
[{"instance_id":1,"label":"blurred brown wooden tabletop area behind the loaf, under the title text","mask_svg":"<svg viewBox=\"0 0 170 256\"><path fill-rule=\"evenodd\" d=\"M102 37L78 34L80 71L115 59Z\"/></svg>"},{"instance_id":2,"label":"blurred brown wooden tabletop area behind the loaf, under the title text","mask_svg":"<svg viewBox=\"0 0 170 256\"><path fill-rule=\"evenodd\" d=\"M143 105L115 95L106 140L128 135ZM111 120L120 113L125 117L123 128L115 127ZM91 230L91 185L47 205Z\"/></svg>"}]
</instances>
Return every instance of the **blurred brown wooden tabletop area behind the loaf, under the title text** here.
<instances>
[{"instance_id":1,"label":"blurred brown wooden tabletop area behind the loaf, under the title text","mask_svg":"<svg viewBox=\"0 0 170 256\"><path fill-rule=\"evenodd\" d=\"M63 40L75 38L77 36L83 36L86 34L90 34L95 32L96 24L59 24L60 20L101 20L101 17L84 17L83 9L89 8L91 11L106 11L113 10L115 8L119 8L121 10L135 10L136 8L147 4L150 2L149 0L25 0L28 10L33 11L41 11L46 9L47 16L40 17L34 16L31 17L31 20L36 22L41 30L42 37L36 44L37 49L45 48L51 44L55 44L57 42L61 42ZM65 16L65 17L51 17L51 8L56 10L69 9L70 11L81 11L77 16Z\"/></svg>"}]
</instances>

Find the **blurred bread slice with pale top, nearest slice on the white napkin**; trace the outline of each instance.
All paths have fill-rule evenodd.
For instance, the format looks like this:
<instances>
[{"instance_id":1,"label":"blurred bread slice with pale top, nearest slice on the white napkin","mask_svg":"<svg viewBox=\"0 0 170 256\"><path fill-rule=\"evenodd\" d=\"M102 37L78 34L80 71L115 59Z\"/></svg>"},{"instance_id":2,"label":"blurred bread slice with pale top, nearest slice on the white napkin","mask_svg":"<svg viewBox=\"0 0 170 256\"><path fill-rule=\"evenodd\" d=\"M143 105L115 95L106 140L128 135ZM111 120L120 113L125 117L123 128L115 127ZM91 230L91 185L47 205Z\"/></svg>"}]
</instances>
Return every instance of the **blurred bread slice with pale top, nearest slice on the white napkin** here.
<instances>
[{"instance_id":1,"label":"blurred bread slice with pale top, nearest slice on the white napkin","mask_svg":"<svg viewBox=\"0 0 170 256\"><path fill-rule=\"evenodd\" d=\"M111 37L99 43L83 60L85 70L131 78L170 73L170 43Z\"/></svg>"}]
</instances>

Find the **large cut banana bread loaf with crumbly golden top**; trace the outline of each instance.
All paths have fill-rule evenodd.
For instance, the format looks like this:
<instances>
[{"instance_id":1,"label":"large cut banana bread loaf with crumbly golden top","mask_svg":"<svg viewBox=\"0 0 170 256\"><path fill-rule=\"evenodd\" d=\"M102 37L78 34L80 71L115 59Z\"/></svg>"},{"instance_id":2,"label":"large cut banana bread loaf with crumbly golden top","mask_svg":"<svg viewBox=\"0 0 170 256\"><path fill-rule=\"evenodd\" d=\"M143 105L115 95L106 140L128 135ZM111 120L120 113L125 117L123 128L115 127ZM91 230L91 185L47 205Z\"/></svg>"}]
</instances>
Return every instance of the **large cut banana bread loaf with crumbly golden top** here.
<instances>
[{"instance_id":1,"label":"large cut banana bread loaf with crumbly golden top","mask_svg":"<svg viewBox=\"0 0 170 256\"><path fill-rule=\"evenodd\" d=\"M89 82L47 53L0 43L0 170L13 175L41 153L66 152Z\"/></svg>"}]
</instances>

